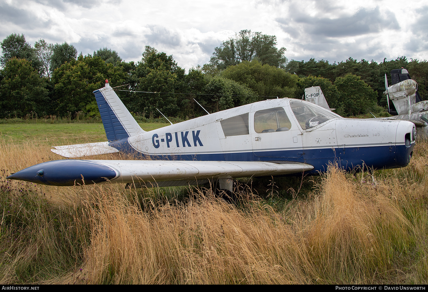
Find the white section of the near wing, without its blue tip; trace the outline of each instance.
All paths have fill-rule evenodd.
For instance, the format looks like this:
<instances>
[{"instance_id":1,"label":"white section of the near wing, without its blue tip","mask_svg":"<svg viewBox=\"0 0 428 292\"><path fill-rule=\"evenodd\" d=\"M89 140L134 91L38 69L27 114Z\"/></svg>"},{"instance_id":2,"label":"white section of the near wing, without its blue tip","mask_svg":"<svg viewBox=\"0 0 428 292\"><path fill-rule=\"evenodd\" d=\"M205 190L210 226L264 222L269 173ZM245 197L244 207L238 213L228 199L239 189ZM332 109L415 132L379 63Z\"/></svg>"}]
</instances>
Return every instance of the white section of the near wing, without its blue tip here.
<instances>
[{"instance_id":1,"label":"white section of the near wing, without its blue tip","mask_svg":"<svg viewBox=\"0 0 428 292\"><path fill-rule=\"evenodd\" d=\"M305 163L269 163L260 161L177 161L177 160L90 160L116 172L112 183L135 181L174 181L211 178L287 175L309 172ZM156 178L156 180L154 179Z\"/></svg>"}]
</instances>

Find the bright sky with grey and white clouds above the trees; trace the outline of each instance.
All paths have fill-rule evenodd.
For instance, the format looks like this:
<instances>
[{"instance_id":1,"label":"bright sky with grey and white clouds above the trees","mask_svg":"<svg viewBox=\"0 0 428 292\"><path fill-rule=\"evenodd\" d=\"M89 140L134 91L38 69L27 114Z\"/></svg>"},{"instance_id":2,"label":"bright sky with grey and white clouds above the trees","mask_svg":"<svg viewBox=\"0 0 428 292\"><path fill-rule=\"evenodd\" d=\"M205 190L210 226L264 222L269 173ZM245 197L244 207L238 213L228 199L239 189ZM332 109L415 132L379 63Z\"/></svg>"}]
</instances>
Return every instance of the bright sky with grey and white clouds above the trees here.
<instances>
[{"instance_id":1,"label":"bright sky with grey and white clouds above the trees","mask_svg":"<svg viewBox=\"0 0 428 292\"><path fill-rule=\"evenodd\" d=\"M0 40L23 33L84 55L107 47L125 61L150 45L188 70L248 29L275 35L288 60L425 60L427 12L426 0L0 0Z\"/></svg>"}]
</instances>

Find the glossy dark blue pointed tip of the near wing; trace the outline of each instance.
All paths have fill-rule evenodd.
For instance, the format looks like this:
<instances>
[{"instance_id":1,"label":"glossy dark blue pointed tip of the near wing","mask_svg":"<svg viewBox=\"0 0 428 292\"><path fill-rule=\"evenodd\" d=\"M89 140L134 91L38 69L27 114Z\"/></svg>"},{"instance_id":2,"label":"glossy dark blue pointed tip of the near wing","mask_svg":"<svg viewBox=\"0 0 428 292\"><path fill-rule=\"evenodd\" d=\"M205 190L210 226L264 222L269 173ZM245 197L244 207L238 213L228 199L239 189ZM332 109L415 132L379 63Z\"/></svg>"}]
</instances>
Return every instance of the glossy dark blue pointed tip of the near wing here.
<instances>
[{"instance_id":1,"label":"glossy dark blue pointed tip of the near wing","mask_svg":"<svg viewBox=\"0 0 428 292\"><path fill-rule=\"evenodd\" d=\"M27 167L9 175L8 179L30 181L50 186L98 184L117 176L114 169L90 160L53 160Z\"/></svg>"}]
</instances>

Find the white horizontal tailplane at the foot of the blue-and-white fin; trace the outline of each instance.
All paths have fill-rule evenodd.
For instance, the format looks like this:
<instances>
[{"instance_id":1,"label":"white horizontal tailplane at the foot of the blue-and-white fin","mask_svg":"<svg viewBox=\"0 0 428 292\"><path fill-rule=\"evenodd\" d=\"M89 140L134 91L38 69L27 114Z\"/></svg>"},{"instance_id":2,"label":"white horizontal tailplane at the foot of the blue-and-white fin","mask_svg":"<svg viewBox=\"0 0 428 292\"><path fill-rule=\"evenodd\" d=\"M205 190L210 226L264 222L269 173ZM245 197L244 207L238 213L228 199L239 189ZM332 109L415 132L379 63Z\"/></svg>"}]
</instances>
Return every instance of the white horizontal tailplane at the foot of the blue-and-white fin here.
<instances>
[{"instance_id":1,"label":"white horizontal tailplane at the foot of the blue-and-white fin","mask_svg":"<svg viewBox=\"0 0 428 292\"><path fill-rule=\"evenodd\" d=\"M84 157L90 155L110 154L119 152L116 148L108 145L108 142L97 142L87 144L74 144L65 146L54 146L53 153L67 158Z\"/></svg>"}]
</instances>

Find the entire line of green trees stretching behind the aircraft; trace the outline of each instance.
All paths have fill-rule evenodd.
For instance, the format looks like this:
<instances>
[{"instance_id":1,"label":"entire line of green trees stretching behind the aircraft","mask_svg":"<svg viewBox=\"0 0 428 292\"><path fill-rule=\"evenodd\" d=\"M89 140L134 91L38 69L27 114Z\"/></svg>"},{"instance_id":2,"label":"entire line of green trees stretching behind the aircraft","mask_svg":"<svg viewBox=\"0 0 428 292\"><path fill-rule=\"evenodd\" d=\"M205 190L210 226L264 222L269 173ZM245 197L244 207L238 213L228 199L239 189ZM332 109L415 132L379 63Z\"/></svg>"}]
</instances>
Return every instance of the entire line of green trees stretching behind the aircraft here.
<instances>
[{"instance_id":1,"label":"entire line of green trees stretching behind the aircraft","mask_svg":"<svg viewBox=\"0 0 428 292\"><path fill-rule=\"evenodd\" d=\"M330 107L343 116L379 112L386 106L384 75L406 68L428 99L426 60L399 57L381 63L348 60L288 61L275 36L242 30L214 48L209 63L185 72L164 52L146 46L138 62L125 62L110 48L77 56L66 42L44 39L32 47L24 35L11 34L0 43L0 118L74 116L97 117L92 91L108 79L134 114L188 119L264 99L302 98L304 88L320 86Z\"/></svg>"}]
</instances>

